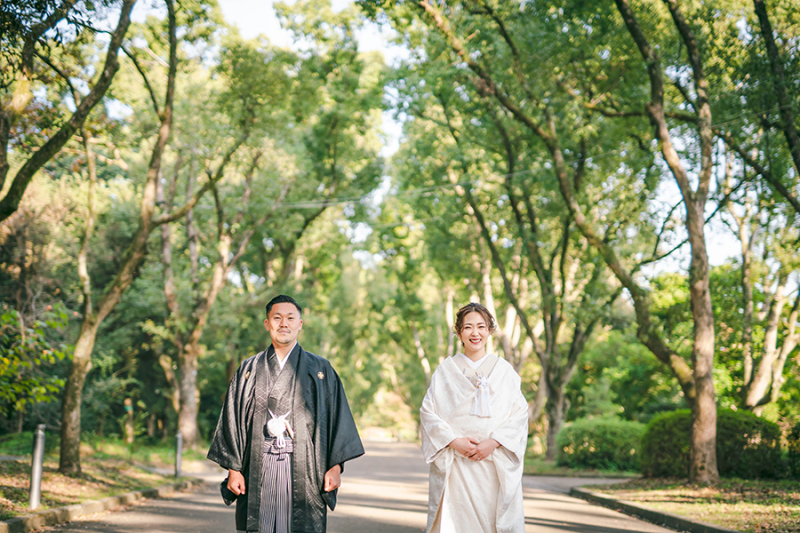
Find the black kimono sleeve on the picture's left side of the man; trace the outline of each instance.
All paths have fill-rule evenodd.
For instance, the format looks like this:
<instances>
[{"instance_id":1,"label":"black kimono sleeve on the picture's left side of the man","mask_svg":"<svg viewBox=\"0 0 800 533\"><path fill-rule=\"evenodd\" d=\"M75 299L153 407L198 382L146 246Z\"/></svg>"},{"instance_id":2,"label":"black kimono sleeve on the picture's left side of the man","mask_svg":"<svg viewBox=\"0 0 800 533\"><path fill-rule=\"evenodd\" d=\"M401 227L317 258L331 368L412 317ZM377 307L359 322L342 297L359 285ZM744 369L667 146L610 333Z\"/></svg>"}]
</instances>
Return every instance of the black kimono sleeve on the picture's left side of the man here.
<instances>
[{"instance_id":1,"label":"black kimono sleeve on the picture's left side of the man","mask_svg":"<svg viewBox=\"0 0 800 533\"><path fill-rule=\"evenodd\" d=\"M222 468L243 470L245 450L247 448L247 423L245 411L245 381L242 375L245 365L233 376L228 385L225 402L217 422L217 430L208 450L208 459Z\"/></svg>"}]
</instances>

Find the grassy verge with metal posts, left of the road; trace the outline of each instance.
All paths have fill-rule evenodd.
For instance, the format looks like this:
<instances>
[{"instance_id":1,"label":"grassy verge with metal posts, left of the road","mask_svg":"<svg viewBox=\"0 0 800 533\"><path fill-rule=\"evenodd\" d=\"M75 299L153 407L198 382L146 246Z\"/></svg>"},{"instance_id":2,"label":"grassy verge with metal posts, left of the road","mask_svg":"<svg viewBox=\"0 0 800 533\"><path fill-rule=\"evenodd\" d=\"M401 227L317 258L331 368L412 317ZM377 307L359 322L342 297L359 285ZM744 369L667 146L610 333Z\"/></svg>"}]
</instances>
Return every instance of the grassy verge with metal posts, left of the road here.
<instances>
[{"instance_id":1,"label":"grassy verge with metal posts, left of the road","mask_svg":"<svg viewBox=\"0 0 800 533\"><path fill-rule=\"evenodd\" d=\"M0 455L25 457L22 461L0 461L0 520L30 513L30 450L32 434L22 433L0 439ZM128 446L119 439L86 437L81 444L83 474L72 477L58 473L57 436L45 439L44 472L40 510L117 496L135 490L160 487L177 481L173 476L150 472L140 465L171 468L173 445ZM185 450L183 464L204 459L204 454Z\"/></svg>"}]
</instances>

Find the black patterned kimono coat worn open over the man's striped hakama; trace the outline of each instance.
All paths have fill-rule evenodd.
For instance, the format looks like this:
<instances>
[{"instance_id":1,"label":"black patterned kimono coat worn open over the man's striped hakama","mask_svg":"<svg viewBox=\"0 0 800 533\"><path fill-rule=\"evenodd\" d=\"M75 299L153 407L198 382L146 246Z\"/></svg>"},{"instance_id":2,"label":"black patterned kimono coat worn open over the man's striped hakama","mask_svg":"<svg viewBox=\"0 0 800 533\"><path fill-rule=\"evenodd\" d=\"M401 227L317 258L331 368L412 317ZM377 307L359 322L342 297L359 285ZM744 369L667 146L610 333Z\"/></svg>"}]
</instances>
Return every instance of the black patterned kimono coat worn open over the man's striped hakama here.
<instances>
[{"instance_id":1,"label":"black patterned kimono coat worn open over the man's striped hakama","mask_svg":"<svg viewBox=\"0 0 800 533\"><path fill-rule=\"evenodd\" d=\"M258 531L264 426L269 414L268 353L242 363L228 386L208 458L245 477L245 494L236 499L236 529ZM325 533L327 509L336 491L323 492L325 473L364 454L344 388L331 364L297 344L292 419L292 533ZM289 362L287 361L287 366Z\"/></svg>"}]
</instances>

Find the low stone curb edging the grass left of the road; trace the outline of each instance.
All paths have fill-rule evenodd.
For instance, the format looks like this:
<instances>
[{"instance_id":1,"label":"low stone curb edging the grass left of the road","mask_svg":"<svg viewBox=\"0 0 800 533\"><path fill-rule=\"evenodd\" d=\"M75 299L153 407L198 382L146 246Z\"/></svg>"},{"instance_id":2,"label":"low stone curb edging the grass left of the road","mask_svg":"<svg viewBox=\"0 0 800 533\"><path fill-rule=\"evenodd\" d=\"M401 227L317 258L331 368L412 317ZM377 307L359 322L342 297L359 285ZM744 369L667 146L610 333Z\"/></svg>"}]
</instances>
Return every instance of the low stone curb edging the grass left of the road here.
<instances>
[{"instance_id":1,"label":"low stone curb edging the grass left of the road","mask_svg":"<svg viewBox=\"0 0 800 533\"><path fill-rule=\"evenodd\" d=\"M18 516L9 520L0 520L0 533L25 533L47 526L55 526L75 520L81 516L110 511L123 505L131 505L139 500L162 498L179 490L194 488L205 483L202 479L191 478L180 483L172 483L154 489L143 489L119 496L111 496L102 500L85 503L76 503L66 507L56 507L46 511L39 511L25 516Z\"/></svg>"}]
</instances>

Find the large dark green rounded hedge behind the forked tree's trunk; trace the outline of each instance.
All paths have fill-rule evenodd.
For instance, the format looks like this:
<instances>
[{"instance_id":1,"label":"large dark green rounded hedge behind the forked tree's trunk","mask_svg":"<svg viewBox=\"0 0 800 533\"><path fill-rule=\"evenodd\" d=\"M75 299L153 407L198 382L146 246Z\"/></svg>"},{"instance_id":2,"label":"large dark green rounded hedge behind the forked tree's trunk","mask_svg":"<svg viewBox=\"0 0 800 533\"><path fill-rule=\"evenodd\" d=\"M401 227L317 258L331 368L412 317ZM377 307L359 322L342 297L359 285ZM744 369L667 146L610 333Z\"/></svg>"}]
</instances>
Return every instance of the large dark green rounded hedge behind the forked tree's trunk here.
<instances>
[{"instance_id":1,"label":"large dark green rounded hedge behind the forked tree's trunk","mask_svg":"<svg viewBox=\"0 0 800 533\"><path fill-rule=\"evenodd\" d=\"M642 437L642 474L688 477L692 415L688 410L654 418ZM717 466L721 476L744 479L780 477L780 428L747 411L717 413Z\"/></svg>"}]
</instances>

